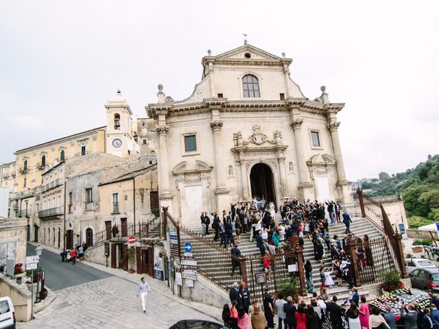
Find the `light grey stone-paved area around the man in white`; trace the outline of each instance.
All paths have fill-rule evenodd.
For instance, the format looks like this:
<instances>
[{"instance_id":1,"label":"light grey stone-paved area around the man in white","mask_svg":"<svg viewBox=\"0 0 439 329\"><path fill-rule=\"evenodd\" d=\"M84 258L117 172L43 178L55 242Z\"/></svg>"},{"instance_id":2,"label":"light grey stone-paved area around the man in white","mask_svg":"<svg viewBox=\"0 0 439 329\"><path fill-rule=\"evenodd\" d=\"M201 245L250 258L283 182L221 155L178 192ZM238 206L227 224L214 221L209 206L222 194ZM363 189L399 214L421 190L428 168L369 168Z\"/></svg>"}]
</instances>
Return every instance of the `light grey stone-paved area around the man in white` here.
<instances>
[{"instance_id":1,"label":"light grey stone-paved area around the man in white","mask_svg":"<svg viewBox=\"0 0 439 329\"><path fill-rule=\"evenodd\" d=\"M215 321L202 311L174 300L170 291L161 293L156 285L163 283L158 280L148 281L152 291L147 296L146 313L136 297L138 284L111 276L56 291L54 302L36 313L36 319L16 326L18 329L167 329L181 319Z\"/></svg>"}]
</instances>

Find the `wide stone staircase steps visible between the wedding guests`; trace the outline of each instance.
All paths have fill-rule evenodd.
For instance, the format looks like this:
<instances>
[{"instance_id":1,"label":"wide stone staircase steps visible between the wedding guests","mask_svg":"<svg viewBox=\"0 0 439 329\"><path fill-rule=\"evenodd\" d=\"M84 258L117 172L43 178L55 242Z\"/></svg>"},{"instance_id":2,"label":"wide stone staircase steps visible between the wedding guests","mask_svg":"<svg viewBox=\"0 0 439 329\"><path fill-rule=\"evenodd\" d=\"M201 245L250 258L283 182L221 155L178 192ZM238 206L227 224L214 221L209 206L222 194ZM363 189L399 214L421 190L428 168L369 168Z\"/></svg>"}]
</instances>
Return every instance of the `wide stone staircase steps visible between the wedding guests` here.
<instances>
[{"instance_id":1,"label":"wide stone staircase steps visible between the wedding guests","mask_svg":"<svg viewBox=\"0 0 439 329\"><path fill-rule=\"evenodd\" d=\"M370 221L368 221L368 219L365 218L361 218L361 217L354 217L352 219L353 223L351 223L351 232L353 232L356 236L359 236L361 238L363 238L364 234L368 234L370 239L374 239L377 237L381 236L381 233L378 232L378 230L375 228L375 226L372 225L372 223L370 223ZM281 216L279 214L276 213L276 223L280 223L281 222ZM201 234L201 224L198 223L192 223L190 224L187 228L189 228L189 230L191 230L191 232L193 232L193 234L195 234L196 236L198 236L198 234ZM344 234L344 230L346 229L346 226L344 226L343 223L339 223L339 224L329 224L329 234L331 235L331 239L333 237L334 234L337 234L338 238L340 239L340 241L343 238L343 234ZM226 289L226 287L231 287L231 284L233 284L233 282L235 281L239 281L240 277L239 275L239 270L236 269L235 270L235 275L231 276L231 261L228 260L228 263L225 263L224 261L220 261L219 260L219 256L218 256L218 252L216 250L215 247L219 247L219 243L220 243L220 239L217 241L213 241L213 230L211 228L209 228L209 235L205 236L205 241L199 241L198 239L194 239L194 236L187 236L183 234L184 239L182 239L182 244L184 244L185 242L190 241L193 245L193 256L195 257L195 260L197 260L198 263L198 267L200 269L211 269L212 265L214 263L221 263L223 264L222 266L219 267L215 267L214 273L206 273L207 276L215 276L215 280L219 281L222 283L222 287L224 289ZM181 234L181 233L180 233ZM235 242L237 241L237 236L234 235L234 239ZM319 268L320 268L320 262L318 262L318 260L314 260L314 255L313 255L313 244L311 242L311 240L307 239L306 237L304 237L305 239L305 245L304 245L304 251L303 251L303 256L306 260L310 260L311 261L311 265L313 267L313 285L314 285L314 291L319 291L320 287L321 287L321 283L320 283L320 275L319 275ZM183 246L182 246L183 247ZM250 233L244 233L241 234L241 243L239 243L238 245L239 250L241 251L241 256L246 256L246 257L250 257L250 256L259 256L260 252L259 249L256 247L256 239L254 238L252 240L252 242L250 242ZM325 248L325 256L324 256L324 267L328 268L329 270L331 270L331 254L330 252L327 250L327 246L326 244L324 245ZM215 249L215 250L213 250ZM228 246L226 250L227 254L230 254L230 246ZM226 258L226 254L224 254L224 258ZM277 266L284 266L285 264L283 263L282 258L278 258L276 259L276 267ZM259 262L253 262L252 263L252 272L253 273L259 273L259 272L263 272L263 267L262 264ZM251 275L250 274L250 265L247 265L247 275ZM238 275L237 275L238 274ZM348 283L347 282L343 282L343 287L337 287L337 279L335 278L335 276L332 274L332 278L335 282L335 287L331 288L331 289L327 289L328 293L331 295L337 295L337 297L339 297L339 300L344 299L345 297L348 296ZM250 280L248 278L248 280ZM276 277L276 283L279 284L279 282L282 280L282 278ZM275 291L276 287L274 285L274 280L272 280L271 282L268 282L268 285L271 289L271 291ZM257 288L258 293L261 290L259 287ZM360 289L360 294L361 295L366 295L366 297L368 296L368 291L367 290L362 290ZM311 294L308 294L308 297L311 297Z\"/></svg>"}]
</instances>

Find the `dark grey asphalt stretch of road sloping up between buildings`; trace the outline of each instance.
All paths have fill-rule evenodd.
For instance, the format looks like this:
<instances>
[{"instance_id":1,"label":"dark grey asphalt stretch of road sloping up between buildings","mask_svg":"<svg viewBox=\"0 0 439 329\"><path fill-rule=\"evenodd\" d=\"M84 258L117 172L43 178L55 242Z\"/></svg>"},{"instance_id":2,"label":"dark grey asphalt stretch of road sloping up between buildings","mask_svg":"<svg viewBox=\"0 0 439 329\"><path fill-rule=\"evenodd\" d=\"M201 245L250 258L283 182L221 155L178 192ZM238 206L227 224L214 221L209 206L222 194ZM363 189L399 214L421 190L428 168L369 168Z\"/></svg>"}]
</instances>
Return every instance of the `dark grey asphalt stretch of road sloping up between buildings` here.
<instances>
[{"instance_id":1,"label":"dark grey asphalt stretch of road sloping up between buildings","mask_svg":"<svg viewBox=\"0 0 439 329\"><path fill-rule=\"evenodd\" d=\"M27 256L35 255L35 246L27 243L26 254ZM52 290L73 287L111 276L109 273L99 271L99 269L78 261L75 265L72 263L62 263L60 254L50 252L47 249L43 249L40 266L46 271L45 285Z\"/></svg>"}]
</instances>

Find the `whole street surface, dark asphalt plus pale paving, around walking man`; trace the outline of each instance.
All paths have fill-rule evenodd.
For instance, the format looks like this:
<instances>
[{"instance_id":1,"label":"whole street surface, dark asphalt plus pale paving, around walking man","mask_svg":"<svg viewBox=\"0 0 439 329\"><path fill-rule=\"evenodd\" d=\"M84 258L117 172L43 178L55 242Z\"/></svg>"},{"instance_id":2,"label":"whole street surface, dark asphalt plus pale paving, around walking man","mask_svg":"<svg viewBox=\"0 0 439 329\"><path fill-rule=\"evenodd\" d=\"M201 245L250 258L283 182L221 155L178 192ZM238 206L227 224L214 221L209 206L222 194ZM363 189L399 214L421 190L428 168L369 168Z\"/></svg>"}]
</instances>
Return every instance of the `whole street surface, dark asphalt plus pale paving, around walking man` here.
<instances>
[{"instance_id":1,"label":"whole street surface, dark asphalt plus pale paving, around walking man","mask_svg":"<svg viewBox=\"0 0 439 329\"><path fill-rule=\"evenodd\" d=\"M32 255L34 248L27 245L27 254ZM55 290L56 299L36 313L34 320L17 323L17 328L166 329L181 319L217 321L205 314L213 309L211 306L172 295L160 280L146 276L152 291L147 295L147 310L143 313L136 297L139 274L101 265L61 263L59 254L47 249L43 250L41 265L46 270L47 287ZM213 311L220 317L221 310Z\"/></svg>"}]
</instances>

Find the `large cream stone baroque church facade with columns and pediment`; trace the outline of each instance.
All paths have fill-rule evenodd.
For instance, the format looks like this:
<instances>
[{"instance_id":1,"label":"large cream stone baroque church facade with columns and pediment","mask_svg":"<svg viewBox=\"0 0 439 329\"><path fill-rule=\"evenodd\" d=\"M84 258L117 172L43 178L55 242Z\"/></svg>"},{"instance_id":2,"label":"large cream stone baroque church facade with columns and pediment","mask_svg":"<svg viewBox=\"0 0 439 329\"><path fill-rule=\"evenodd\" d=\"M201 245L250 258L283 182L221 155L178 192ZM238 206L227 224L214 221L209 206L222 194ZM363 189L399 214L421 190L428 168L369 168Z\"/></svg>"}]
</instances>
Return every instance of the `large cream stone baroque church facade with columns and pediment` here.
<instances>
[{"instance_id":1,"label":"large cream stone baroque church facade with columns and pediment","mask_svg":"<svg viewBox=\"0 0 439 329\"><path fill-rule=\"evenodd\" d=\"M158 134L161 206L185 225L201 211L264 197L352 204L337 121L344 103L326 88L309 99L289 73L291 58L248 44L202 58L202 80L180 101L158 85L145 107Z\"/></svg>"}]
</instances>

